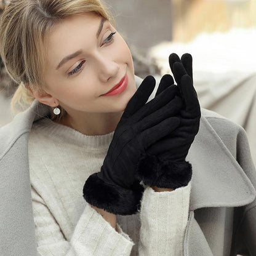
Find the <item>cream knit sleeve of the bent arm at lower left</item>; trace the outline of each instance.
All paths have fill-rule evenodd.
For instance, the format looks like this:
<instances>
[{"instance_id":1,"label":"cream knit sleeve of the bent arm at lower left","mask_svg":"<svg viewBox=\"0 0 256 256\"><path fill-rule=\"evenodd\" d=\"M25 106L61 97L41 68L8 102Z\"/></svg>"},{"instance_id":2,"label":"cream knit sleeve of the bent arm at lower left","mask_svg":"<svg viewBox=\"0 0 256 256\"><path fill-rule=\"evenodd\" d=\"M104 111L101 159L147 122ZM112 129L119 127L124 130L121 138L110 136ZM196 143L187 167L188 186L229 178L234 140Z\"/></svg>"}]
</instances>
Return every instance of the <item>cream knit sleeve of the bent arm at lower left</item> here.
<instances>
[{"instance_id":1,"label":"cream knit sleeve of the bent arm at lower left","mask_svg":"<svg viewBox=\"0 0 256 256\"><path fill-rule=\"evenodd\" d=\"M106 222L96 210L86 205L68 241L44 200L31 186L38 255L49 256L129 256L134 242Z\"/></svg>"}]
</instances>

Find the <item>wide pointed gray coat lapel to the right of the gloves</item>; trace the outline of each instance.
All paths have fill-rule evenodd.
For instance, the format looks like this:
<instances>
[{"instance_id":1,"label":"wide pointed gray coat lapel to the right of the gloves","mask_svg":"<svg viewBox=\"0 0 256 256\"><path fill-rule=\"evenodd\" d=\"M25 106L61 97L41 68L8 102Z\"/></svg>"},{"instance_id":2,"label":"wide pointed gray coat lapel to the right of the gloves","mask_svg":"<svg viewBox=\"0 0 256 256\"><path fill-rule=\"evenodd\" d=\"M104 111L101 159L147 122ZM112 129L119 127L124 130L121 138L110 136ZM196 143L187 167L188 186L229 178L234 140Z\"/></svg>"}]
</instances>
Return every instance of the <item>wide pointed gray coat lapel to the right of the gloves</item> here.
<instances>
[{"instance_id":1,"label":"wide pointed gray coat lapel to the right of the gloves","mask_svg":"<svg viewBox=\"0 0 256 256\"><path fill-rule=\"evenodd\" d=\"M137 87L142 79L135 76ZM192 164L190 210L236 207L254 201L255 189L203 114L186 158Z\"/></svg>"}]
</instances>

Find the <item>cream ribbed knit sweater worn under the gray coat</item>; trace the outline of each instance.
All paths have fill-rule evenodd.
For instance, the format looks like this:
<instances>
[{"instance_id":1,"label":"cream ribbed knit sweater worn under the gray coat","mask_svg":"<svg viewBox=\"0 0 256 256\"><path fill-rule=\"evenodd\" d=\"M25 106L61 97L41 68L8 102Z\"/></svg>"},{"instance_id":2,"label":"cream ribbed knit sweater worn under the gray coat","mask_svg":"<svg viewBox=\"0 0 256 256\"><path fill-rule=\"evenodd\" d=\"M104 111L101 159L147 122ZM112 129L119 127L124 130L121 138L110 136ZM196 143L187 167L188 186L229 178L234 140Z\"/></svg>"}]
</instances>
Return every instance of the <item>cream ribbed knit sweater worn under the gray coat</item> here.
<instances>
[{"instance_id":1,"label":"cream ribbed knit sweater worn under the gray coat","mask_svg":"<svg viewBox=\"0 0 256 256\"><path fill-rule=\"evenodd\" d=\"M117 216L118 231L84 200L84 183L100 170L113 134L34 122L28 154L38 255L183 255L191 183L161 193L147 186L140 212Z\"/></svg>"}]
</instances>

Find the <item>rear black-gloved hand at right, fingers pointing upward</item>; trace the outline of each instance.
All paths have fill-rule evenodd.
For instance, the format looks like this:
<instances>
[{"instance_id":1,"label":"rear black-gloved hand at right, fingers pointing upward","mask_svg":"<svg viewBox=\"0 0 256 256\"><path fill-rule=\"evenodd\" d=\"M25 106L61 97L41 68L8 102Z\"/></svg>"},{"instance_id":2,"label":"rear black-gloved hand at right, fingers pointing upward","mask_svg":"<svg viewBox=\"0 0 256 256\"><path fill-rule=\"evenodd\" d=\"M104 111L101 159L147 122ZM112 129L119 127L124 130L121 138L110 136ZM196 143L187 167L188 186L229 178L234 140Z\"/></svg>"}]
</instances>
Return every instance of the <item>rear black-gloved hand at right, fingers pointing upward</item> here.
<instances>
[{"instance_id":1,"label":"rear black-gloved hand at right, fingers pointing upward","mask_svg":"<svg viewBox=\"0 0 256 256\"><path fill-rule=\"evenodd\" d=\"M146 185L175 189L186 186L192 177L191 164L185 158L198 133L201 110L193 87L191 55L184 54L181 61L178 55L171 54L169 63L183 100L180 125L146 149L138 162L136 177ZM174 80L166 74L156 95L166 92L170 84Z\"/></svg>"}]
</instances>

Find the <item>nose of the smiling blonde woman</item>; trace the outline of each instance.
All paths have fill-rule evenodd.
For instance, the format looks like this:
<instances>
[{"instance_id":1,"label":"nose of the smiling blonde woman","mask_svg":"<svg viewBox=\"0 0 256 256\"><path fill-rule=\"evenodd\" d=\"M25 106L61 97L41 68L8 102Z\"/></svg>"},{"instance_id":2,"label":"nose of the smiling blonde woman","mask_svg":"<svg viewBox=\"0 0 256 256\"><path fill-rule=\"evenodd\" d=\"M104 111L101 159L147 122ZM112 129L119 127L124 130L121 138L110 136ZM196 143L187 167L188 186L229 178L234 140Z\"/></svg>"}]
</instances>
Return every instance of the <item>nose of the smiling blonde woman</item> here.
<instances>
[{"instance_id":1,"label":"nose of the smiling blonde woman","mask_svg":"<svg viewBox=\"0 0 256 256\"><path fill-rule=\"evenodd\" d=\"M119 64L116 63L111 57L99 56L97 58L98 76L101 81L107 82L111 78L115 78L118 75Z\"/></svg>"}]
</instances>

